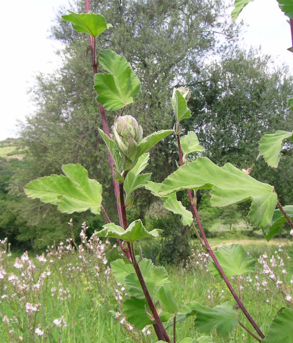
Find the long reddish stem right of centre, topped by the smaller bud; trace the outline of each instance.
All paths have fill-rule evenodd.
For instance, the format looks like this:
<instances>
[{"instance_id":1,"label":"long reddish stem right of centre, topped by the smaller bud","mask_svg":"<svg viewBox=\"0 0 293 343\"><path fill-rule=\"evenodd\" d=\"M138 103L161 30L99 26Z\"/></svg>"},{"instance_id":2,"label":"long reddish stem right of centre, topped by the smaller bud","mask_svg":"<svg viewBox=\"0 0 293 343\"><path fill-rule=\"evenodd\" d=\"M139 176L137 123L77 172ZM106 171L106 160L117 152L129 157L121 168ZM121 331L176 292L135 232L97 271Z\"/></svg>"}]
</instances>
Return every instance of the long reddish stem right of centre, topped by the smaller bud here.
<instances>
[{"instance_id":1,"label":"long reddish stem right of centre, topped by the smaller bud","mask_svg":"<svg viewBox=\"0 0 293 343\"><path fill-rule=\"evenodd\" d=\"M180 164L181 166L183 165L183 158L182 158L182 150L181 150L181 144L180 144L180 137L179 135L177 135L177 143L178 143L178 151L179 151L179 157L180 157ZM241 309L241 311L244 313L244 315L246 316L246 318L249 320L249 322L251 323L251 325L253 326L253 328L256 330L256 332L259 334L259 336L263 339L264 338L264 334L261 332L260 328L257 326L257 324L255 323L255 321L251 318L251 316L249 315L248 311L246 310L245 306L243 305L243 303L241 302L241 300L239 299L238 295L236 294L234 288L232 287L232 285L230 284L226 274L224 273L221 265L219 264L217 258L214 255L214 252L206 238L205 232L203 230L199 215L198 215L198 211L196 209L196 206L192 203L193 202L193 197L191 194L191 190L189 189L188 191L188 195L189 195L189 199L190 199L190 203L196 218L196 222L198 224L198 227L200 229L200 233L201 236L204 240L204 244L207 248L207 251L209 252L209 255L211 256L213 262L215 263L219 273L221 274L221 276L223 277L223 280L225 281L229 291L231 292L231 294L233 295L234 299L236 300L236 303L238 304L239 308Z\"/></svg>"}]
</instances>

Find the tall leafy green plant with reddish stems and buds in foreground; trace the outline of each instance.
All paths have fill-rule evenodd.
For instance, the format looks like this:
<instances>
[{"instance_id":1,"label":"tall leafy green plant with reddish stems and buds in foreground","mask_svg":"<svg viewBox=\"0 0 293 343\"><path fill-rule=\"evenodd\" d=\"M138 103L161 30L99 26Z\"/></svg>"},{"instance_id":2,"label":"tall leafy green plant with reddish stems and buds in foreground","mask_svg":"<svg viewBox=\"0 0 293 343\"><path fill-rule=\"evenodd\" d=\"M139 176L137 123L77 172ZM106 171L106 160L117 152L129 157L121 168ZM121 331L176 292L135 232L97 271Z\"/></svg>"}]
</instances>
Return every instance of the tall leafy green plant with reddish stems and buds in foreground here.
<instances>
[{"instance_id":1,"label":"tall leafy green plant with reddish stems and buds in foreground","mask_svg":"<svg viewBox=\"0 0 293 343\"><path fill-rule=\"evenodd\" d=\"M117 55L109 49L101 49L96 60L96 38L111 27L100 14L89 11L89 1L86 1L87 14L71 12L63 19L70 21L78 32L86 32L90 37L92 68L94 73L94 89L97 91L97 101L102 117L103 131L99 130L108 147L110 169L116 196L116 206L119 213L120 225L111 222L102 206L102 185L88 177L88 172L79 164L63 165L65 175L51 175L31 181L24 188L27 196L39 198L41 201L58 206L63 213L84 212L90 210L95 215L102 212L108 222L94 236L116 238L122 252L121 258L112 262L112 272L117 282L125 285L130 298L126 299L122 308L128 321L142 330L146 325L152 324L158 342L176 342L176 323L195 316L195 328L204 334L216 330L219 336L227 336L239 324L257 341L273 342L274 335L285 341L286 336L292 332L286 326L286 321L292 322L292 308L281 308L272 326L265 336L260 326L252 319L241 298L241 275L255 269L255 260L251 258L241 245L219 248L213 252L206 238L198 211L196 208L196 191L210 190L211 204L213 206L226 206L251 201L248 219L251 224L271 227L282 218L291 225L290 214L286 213L278 201L274 187L263 184L250 175L226 163L223 167L214 164L209 158L198 157L195 161L185 163L186 156L203 151L199 145L195 132L181 135L180 122L191 116L187 106L190 97L188 88L174 88L171 98L176 122L173 130L161 130L143 138L143 128L136 119L124 115L127 106L134 102L138 96L140 82L132 67L124 56ZM98 66L104 70L98 73ZM105 110L121 110L116 116L113 135L110 134ZM148 151L159 141L167 140L170 134L176 135L180 167L169 175L161 184L150 181L151 174L142 174L148 163ZM289 136L286 135L285 138ZM272 142L275 144L275 141ZM263 153L266 158L266 154ZM237 305L231 301L216 305L213 308L204 306L198 301L191 301L178 308L174 302L169 285L167 271L164 267L156 267L151 260L143 257L142 249L136 255L135 244L139 239L157 238L162 230L153 229L148 232L141 220L135 220L128 225L127 209L134 204L133 193L138 188L146 188L164 201L165 209L181 216L184 226L192 226L202 248L210 256L209 270L219 279L223 279ZM190 205L195 216L198 229L193 223L193 215L181 201L177 200L176 193L187 190ZM276 206L279 208L275 210ZM273 220L273 216L278 216ZM173 242L176 244L176 241ZM237 277L238 292L233 288L230 279ZM239 311L241 310L241 311ZM244 324L242 314L250 322L259 335L258 338ZM171 340L163 323L167 327L173 326L173 339ZM210 342L207 336L199 338L185 338L183 342ZM289 342L289 341L288 341Z\"/></svg>"}]
</instances>

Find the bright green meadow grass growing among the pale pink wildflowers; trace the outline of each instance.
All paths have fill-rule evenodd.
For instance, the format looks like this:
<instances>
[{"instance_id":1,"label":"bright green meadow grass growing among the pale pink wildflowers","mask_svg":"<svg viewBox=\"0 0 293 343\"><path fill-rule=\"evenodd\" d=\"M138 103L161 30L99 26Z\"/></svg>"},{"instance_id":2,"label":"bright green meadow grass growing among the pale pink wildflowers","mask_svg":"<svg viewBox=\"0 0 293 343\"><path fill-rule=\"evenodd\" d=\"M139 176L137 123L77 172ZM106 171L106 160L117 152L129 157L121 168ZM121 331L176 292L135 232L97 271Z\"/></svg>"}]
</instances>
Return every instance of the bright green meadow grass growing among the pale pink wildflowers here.
<instances>
[{"instance_id":1,"label":"bright green meadow grass growing among the pale pink wildflowers","mask_svg":"<svg viewBox=\"0 0 293 343\"><path fill-rule=\"evenodd\" d=\"M219 238L211 239L210 242L213 247L219 244L237 243L233 240L221 241ZM261 240L247 239L243 243L247 251L256 259L264 251L267 252L268 256L276 256L276 252L277 254L285 254L287 252L290 254L291 259L284 258L285 265L282 268L286 268L287 270L284 278L287 284L289 284L288 292L291 292L293 296L293 286L290 286L290 280L293 274L291 263L293 259L292 242L285 242L285 240L273 240L272 242L272 244L268 245ZM284 249L282 252L278 252L280 244L282 245L282 249ZM167 266L173 297L178 307L180 308L192 300L199 301L209 307L214 307L225 301L234 302L225 284L221 280L212 277L206 271L206 264L200 260L200 255L203 253L203 250L199 246L196 247L198 251L195 250L192 263L189 267L185 268L181 265ZM115 255L113 252L112 250L107 256ZM40 287L39 291L34 291L32 288L31 291L18 293L15 292L10 281L7 279L0 280L0 296L3 294L9 296L8 299L0 298L2 302L0 305L0 317L7 315L11 319L13 316L16 316L19 321L18 323L11 321L9 329L14 328L17 333L16 336L23 336L25 342L156 342L154 335L141 336L134 329L127 331L127 328L120 324L122 315L119 319L115 318L116 312L121 312L115 300L115 296L117 295L115 289L120 290L121 286L117 286L111 275L108 275L107 279L105 274L107 265L103 264L101 259L96 258L91 251L85 251L82 254L84 260L78 257L77 252L66 252L64 249L62 253L54 253L52 256L47 256L47 261L44 264L40 263L33 254L30 254L29 257L36 266L33 276L34 282L31 282L30 286L36 284L42 272L47 271L47 265L49 265L51 272L49 276L45 277L44 284ZM15 255L12 257L5 256L2 265L8 275L13 272L19 276L20 270L13 267L15 257ZM50 262L50 259L53 262ZM197 260L200 261L199 265L196 264ZM99 267L99 270L95 269L96 266ZM25 268L23 267L23 269ZM96 274L97 272L99 273L98 276ZM276 273L281 272L278 270ZM261 265L259 263L257 263L257 271L255 274L262 277ZM253 275L251 275L251 278L254 280ZM25 278L23 280L29 284L29 281L25 281ZM237 287L236 280L232 280L232 283ZM282 306L292 307L292 304L286 303L280 291L273 283L269 285L270 289L268 292L264 292L263 290L254 292L250 289L251 284L248 281L243 280L242 283L244 286L242 294L244 295L245 306L252 318L259 324L261 330L266 333L277 309ZM54 289L54 287L56 288L56 292L53 292L52 296L51 289ZM66 291L66 294L60 295L59 291ZM14 293L17 293L17 295L13 297L12 294ZM121 294L125 298L122 291ZM25 297L25 299L21 300L21 296ZM269 303L266 300L269 300ZM34 312L33 314L35 319L30 318L26 313L24 306L26 302L32 304L41 303L40 311ZM67 326L63 327L62 330L53 325L53 320L60 319L61 316L64 316L67 323ZM239 318L253 331L242 313L239 313ZM177 342L180 342L180 340L187 336L199 337L201 335L194 330L193 320L194 318L189 318L177 324ZM33 332L30 332L29 327L34 322L34 329L31 330ZM34 334L34 330L38 324L41 324L41 329L44 330L42 337ZM48 329L45 336L46 328ZM150 330L153 331L151 327ZM170 337L172 337L172 330L172 327L168 329ZM3 343L14 342L9 338L9 334L2 321L0 322L0 337ZM239 326L228 338L220 338L215 332L212 332L212 338L215 343L255 342Z\"/></svg>"}]
</instances>

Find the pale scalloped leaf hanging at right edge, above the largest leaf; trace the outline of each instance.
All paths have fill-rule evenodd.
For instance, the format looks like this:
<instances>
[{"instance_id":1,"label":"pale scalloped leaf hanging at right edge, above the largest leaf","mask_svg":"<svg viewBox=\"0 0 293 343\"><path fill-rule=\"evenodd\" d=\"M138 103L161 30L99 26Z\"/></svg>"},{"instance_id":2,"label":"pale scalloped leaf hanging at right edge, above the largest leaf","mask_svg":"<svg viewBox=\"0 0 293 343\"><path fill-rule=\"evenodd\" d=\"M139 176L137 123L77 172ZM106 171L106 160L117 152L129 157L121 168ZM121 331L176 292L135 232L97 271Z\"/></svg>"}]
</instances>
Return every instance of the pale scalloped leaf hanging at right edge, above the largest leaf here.
<instances>
[{"instance_id":1,"label":"pale scalloped leaf hanging at right edge, above the largest leaf","mask_svg":"<svg viewBox=\"0 0 293 343\"><path fill-rule=\"evenodd\" d=\"M259 154L263 156L264 161L270 167L277 168L280 158L281 150L283 149L284 140L291 138L293 131L281 131L278 130L276 133L265 134L259 142Z\"/></svg>"}]
</instances>

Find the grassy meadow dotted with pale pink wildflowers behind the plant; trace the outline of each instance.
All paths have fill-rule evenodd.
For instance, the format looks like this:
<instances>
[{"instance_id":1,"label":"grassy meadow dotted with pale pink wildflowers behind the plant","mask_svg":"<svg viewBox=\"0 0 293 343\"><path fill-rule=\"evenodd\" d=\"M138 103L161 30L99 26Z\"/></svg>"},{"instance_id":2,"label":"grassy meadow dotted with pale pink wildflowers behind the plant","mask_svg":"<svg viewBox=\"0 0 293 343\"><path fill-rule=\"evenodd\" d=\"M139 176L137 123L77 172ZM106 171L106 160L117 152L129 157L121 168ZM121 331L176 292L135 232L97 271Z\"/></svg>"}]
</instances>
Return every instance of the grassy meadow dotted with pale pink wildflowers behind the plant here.
<instances>
[{"instance_id":1,"label":"grassy meadow dotted with pale pink wildflowers behind the plant","mask_svg":"<svg viewBox=\"0 0 293 343\"><path fill-rule=\"evenodd\" d=\"M86 223L80 244L69 238L48 247L43 254L10 251L1 241L0 324L1 342L156 342L153 328L136 330L123 315L121 302L127 290L117 284L110 262L118 251L115 241L87 238ZM233 241L211 239L213 247ZM267 332L277 310L293 307L292 242L246 239L245 249L257 260L255 273L241 279L242 298L252 317ZM179 308L192 300L213 307L233 301L224 282L207 272L207 253L193 241L185 264L168 265L173 297ZM145 241L144 251L147 251ZM232 282L236 285L237 280ZM114 295L114 296L113 296ZM239 319L251 331L242 312ZM172 336L172 326L168 333ZM192 317L177 323L177 340L200 337ZM215 332L213 342L253 342L239 325L228 339Z\"/></svg>"}]
</instances>

